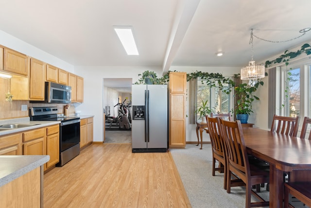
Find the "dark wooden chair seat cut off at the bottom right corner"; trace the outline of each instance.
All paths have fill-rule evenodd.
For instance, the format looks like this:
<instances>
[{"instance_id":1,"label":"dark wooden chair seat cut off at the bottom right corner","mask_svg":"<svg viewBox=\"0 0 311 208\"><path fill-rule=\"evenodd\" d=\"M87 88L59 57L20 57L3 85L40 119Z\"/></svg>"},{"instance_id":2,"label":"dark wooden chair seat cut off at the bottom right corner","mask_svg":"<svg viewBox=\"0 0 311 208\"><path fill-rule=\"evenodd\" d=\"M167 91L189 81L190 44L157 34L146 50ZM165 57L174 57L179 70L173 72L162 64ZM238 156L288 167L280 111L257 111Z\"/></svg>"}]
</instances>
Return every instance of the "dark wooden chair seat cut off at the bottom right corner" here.
<instances>
[{"instance_id":1,"label":"dark wooden chair seat cut off at the bottom right corner","mask_svg":"<svg viewBox=\"0 0 311 208\"><path fill-rule=\"evenodd\" d=\"M284 208L294 208L289 203L289 194L311 207L311 182L289 182L284 183Z\"/></svg>"}]
</instances>

